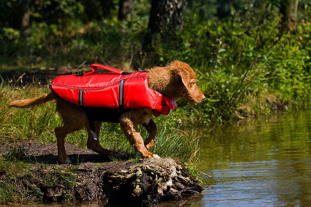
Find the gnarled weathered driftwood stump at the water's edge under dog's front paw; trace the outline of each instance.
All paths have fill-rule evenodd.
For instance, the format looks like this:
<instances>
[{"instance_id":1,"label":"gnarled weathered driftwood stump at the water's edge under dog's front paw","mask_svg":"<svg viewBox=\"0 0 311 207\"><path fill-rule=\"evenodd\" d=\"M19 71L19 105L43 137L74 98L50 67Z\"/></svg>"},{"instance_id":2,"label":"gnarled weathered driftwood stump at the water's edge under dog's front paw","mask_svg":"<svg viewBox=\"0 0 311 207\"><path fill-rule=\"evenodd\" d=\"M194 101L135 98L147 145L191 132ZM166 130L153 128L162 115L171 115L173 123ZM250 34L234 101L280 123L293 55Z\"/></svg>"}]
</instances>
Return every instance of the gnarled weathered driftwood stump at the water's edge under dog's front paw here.
<instances>
[{"instance_id":1,"label":"gnarled weathered driftwood stump at the water's edge under dog's front paw","mask_svg":"<svg viewBox=\"0 0 311 207\"><path fill-rule=\"evenodd\" d=\"M186 169L171 158L143 160L142 164L133 165L125 171L108 172L104 183L113 189L111 195L117 198L123 195L145 206L202 191L202 187L189 177Z\"/></svg>"}]
</instances>

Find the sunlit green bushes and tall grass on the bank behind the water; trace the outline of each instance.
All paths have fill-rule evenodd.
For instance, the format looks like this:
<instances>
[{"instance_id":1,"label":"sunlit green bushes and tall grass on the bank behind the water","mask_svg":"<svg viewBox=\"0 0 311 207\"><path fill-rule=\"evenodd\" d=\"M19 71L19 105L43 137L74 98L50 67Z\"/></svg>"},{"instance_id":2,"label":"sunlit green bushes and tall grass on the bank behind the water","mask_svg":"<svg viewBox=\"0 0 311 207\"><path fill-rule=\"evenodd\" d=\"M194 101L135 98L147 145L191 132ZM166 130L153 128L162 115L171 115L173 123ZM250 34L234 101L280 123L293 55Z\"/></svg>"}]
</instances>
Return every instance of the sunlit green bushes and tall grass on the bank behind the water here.
<instances>
[{"instance_id":1,"label":"sunlit green bushes and tall grass on the bank behind the water","mask_svg":"<svg viewBox=\"0 0 311 207\"><path fill-rule=\"evenodd\" d=\"M197 15L187 17L188 24L169 47L156 45L163 64L180 59L197 73L207 98L182 110L193 123L221 124L310 104L310 22L300 24L296 34L280 37L278 8L265 2L262 10L245 7L205 24ZM250 16L243 19L245 14Z\"/></svg>"}]
</instances>

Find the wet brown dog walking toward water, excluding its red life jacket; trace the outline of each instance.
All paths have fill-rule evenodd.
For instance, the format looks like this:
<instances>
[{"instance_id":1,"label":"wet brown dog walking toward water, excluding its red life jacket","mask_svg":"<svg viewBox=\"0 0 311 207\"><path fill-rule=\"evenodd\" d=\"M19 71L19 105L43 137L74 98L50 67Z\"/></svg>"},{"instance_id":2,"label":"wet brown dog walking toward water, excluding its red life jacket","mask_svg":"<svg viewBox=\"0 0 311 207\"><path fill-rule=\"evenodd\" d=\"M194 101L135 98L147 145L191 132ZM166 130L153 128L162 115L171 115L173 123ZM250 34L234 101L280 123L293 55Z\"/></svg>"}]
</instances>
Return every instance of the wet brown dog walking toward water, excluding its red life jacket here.
<instances>
[{"instance_id":1,"label":"wet brown dog walking toward water, excluding its red life jacket","mask_svg":"<svg viewBox=\"0 0 311 207\"><path fill-rule=\"evenodd\" d=\"M148 86L152 90L170 97L171 99L184 98L193 103L201 102L205 96L197 87L197 79L193 69L186 63L173 61L166 67L154 67L147 70ZM90 124L85 111L72 103L63 101L53 93L44 94L41 97L25 100L13 101L8 106L27 108L43 104L47 101L56 100L56 110L63 119L63 126L54 129L57 138L58 159L62 163L69 163L64 140L68 133L86 128L88 133L87 147L97 153L120 157L125 154L106 150L102 148L99 140L93 139ZM142 154L144 158L160 158L157 154L152 154L148 150L153 146L156 137L156 124L152 120L152 109L131 109L120 116L119 122L123 133L131 145ZM149 133L148 138L143 141L138 124L142 124ZM101 122L94 122L95 133L99 136Z\"/></svg>"}]
</instances>

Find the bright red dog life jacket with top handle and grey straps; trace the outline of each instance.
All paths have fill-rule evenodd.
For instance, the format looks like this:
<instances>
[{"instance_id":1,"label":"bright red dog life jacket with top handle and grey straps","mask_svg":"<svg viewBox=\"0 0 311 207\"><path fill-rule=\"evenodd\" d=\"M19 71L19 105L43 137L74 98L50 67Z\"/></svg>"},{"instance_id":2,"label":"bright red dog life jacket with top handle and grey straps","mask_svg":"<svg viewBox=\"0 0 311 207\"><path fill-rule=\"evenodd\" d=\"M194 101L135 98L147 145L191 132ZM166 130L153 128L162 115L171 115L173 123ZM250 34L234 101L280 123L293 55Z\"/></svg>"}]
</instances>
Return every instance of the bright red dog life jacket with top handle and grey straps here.
<instances>
[{"instance_id":1,"label":"bright red dog life jacket with top handle and grey straps","mask_svg":"<svg viewBox=\"0 0 311 207\"><path fill-rule=\"evenodd\" d=\"M98 68L113 73L94 73ZM151 108L154 114L168 115L177 104L148 87L148 73L126 73L100 64L92 64L92 71L81 75L62 75L50 84L59 98L81 107L111 109ZM94 74L93 74L94 73Z\"/></svg>"}]
</instances>

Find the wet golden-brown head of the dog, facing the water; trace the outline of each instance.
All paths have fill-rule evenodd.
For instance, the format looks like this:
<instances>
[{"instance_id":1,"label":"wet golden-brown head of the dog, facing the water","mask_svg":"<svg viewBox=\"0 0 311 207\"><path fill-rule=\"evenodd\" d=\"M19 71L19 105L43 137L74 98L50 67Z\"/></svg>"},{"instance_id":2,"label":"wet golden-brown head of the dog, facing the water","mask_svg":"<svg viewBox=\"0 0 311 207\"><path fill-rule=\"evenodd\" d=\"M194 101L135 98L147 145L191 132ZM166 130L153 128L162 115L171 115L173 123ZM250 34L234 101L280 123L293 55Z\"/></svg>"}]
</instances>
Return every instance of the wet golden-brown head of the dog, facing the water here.
<instances>
[{"instance_id":1,"label":"wet golden-brown head of the dog, facing the water","mask_svg":"<svg viewBox=\"0 0 311 207\"><path fill-rule=\"evenodd\" d=\"M184 98L193 103L200 103L205 98L197 87L197 77L193 69L187 63L172 61L167 67L173 72L175 93L178 98Z\"/></svg>"}]
</instances>

